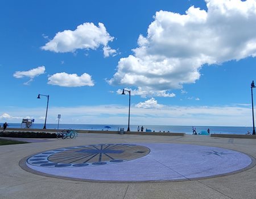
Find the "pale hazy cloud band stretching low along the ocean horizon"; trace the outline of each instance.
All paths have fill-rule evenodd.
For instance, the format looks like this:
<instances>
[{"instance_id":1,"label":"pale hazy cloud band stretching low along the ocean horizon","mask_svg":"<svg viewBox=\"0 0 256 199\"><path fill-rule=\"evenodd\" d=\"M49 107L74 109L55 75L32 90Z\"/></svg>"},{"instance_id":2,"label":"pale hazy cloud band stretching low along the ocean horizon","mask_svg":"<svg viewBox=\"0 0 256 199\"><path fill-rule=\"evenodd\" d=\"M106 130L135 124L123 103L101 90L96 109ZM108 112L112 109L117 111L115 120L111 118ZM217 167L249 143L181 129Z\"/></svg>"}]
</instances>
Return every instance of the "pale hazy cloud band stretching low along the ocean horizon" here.
<instances>
[{"instance_id":1,"label":"pale hazy cloud band stretching low along the ocean horizon","mask_svg":"<svg viewBox=\"0 0 256 199\"><path fill-rule=\"evenodd\" d=\"M154 101L154 100L152 100ZM149 103L148 103L149 104ZM152 103L154 105L154 103ZM157 104L157 103L156 103ZM9 115L27 115L27 108L9 107ZM46 108L29 109L34 115L35 123L43 123ZM121 105L52 107L48 109L47 123L56 123L57 114L61 114L61 123L80 124L119 124L127 123L128 107ZM1 122L8 122L7 117L0 118ZM14 117L13 117L14 118ZM11 119L13 123L20 123L23 117ZM71 120L72 118L72 120ZM184 125L184 126L251 126L251 106L172 106L147 109L135 107L131 104L130 125Z\"/></svg>"}]
</instances>

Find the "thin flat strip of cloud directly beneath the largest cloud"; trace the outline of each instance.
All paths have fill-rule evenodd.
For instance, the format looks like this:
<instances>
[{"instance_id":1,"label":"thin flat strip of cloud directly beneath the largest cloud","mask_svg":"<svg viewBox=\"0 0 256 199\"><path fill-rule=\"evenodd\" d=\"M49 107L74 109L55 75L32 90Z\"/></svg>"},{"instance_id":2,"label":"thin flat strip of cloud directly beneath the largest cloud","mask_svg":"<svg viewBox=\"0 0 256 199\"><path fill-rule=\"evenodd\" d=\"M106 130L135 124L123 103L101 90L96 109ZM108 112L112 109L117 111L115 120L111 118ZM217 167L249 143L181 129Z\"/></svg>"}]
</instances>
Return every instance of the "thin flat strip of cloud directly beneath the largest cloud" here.
<instances>
[{"instance_id":1,"label":"thin flat strip of cloud directly beneath the largest cloud","mask_svg":"<svg viewBox=\"0 0 256 199\"><path fill-rule=\"evenodd\" d=\"M168 93L167 90L151 90L150 88L144 88L142 89L140 86L138 89L128 89L125 88L125 90L131 90L131 96L141 96L143 98L146 97L175 97L174 93ZM123 92L122 89L117 90L117 94L121 94Z\"/></svg>"}]
</instances>

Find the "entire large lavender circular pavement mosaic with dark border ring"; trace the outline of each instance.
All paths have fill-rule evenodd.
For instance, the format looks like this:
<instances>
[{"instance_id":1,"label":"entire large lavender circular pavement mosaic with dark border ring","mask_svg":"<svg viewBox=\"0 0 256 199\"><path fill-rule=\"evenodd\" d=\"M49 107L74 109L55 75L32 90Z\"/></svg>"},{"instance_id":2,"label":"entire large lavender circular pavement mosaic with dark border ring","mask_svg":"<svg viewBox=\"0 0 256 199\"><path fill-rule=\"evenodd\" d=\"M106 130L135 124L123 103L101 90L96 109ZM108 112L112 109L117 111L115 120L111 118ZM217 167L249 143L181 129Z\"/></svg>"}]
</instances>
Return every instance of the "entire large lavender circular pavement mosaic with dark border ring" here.
<instances>
[{"instance_id":1,"label":"entire large lavender circular pavement mosaic with dark border ring","mask_svg":"<svg viewBox=\"0 0 256 199\"><path fill-rule=\"evenodd\" d=\"M254 157L226 148L173 143L94 144L20 160L43 176L79 181L156 182L205 179L245 171Z\"/></svg>"}]
</instances>

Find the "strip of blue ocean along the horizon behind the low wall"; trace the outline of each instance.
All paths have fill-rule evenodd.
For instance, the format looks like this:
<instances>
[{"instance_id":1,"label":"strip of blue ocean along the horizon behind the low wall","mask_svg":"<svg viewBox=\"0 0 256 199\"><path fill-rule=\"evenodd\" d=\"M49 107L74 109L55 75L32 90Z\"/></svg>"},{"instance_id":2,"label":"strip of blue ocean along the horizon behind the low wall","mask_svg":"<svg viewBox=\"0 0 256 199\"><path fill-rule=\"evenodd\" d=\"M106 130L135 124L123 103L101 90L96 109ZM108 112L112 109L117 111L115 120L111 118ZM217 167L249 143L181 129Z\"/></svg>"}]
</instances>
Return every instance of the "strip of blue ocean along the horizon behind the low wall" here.
<instances>
[{"instance_id":1,"label":"strip of blue ocean along the horizon behind the low wall","mask_svg":"<svg viewBox=\"0 0 256 199\"><path fill-rule=\"evenodd\" d=\"M2 124L1 124L2 125ZM9 128L20 128L20 123L9 123ZM34 123L32 128L43 128L44 124ZM110 128L106 128L109 126ZM141 127L141 126L140 126ZM158 125L143 125L144 131L150 129L155 132L185 132L186 134L192 134L192 126L158 126ZM211 134L246 134L247 131L252 132L253 127L234 127L234 126L195 126L196 132L207 131L210 129ZM57 129L57 124L46 124L46 128ZM76 130L111 130L117 131L120 128L127 130L127 125L74 125L74 124L59 124L59 129L76 129ZM130 125L131 131L137 131L137 125Z\"/></svg>"}]
</instances>

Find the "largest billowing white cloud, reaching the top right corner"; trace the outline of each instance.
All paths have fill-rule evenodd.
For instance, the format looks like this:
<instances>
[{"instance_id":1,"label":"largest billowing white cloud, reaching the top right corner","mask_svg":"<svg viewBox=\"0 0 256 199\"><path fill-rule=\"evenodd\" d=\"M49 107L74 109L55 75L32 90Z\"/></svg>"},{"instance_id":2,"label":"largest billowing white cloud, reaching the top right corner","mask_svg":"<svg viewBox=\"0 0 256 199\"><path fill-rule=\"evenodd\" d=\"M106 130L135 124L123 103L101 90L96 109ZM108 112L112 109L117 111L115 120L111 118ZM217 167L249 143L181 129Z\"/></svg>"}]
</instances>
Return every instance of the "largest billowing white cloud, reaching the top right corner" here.
<instances>
[{"instance_id":1,"label":"largest billowing white cloud, reaching the top right corner","mask_svg":"<svg viewBox=\"0 0 256 199\"><path fill-rule=\"evenodd\" d=\"M133 55L122 58L111 85L162 91L195 83L204 65L256 55L256 1L205 0L208 10L184 15L160 10L140 35Z\"/></svg>"}]
</instances>

